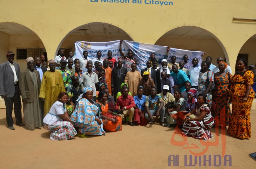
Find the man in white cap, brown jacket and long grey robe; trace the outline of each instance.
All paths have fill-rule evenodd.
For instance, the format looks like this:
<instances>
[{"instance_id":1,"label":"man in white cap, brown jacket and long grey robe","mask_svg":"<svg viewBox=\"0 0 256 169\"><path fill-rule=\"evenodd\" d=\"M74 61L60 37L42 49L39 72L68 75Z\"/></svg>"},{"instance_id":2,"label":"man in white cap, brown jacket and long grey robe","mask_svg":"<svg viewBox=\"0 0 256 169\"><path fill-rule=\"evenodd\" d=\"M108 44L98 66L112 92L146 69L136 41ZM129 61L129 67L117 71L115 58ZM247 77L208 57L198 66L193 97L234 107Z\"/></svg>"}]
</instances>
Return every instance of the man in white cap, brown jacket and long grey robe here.
<instances>
[{"instance_id":1,"label":"man in white cap, brown jacket and long grey robe","mask_svg":"<svg viewBox=\"0 0 256 169\"><path fill-rule=\"evenodd\" d=\"M42 126L42 111L39 102L41 87L40 74L34 70L32 57L26 59L27 69L19 73L19 88L23 103L23 113L27 130Z\"/></svg>"}]
</instances>

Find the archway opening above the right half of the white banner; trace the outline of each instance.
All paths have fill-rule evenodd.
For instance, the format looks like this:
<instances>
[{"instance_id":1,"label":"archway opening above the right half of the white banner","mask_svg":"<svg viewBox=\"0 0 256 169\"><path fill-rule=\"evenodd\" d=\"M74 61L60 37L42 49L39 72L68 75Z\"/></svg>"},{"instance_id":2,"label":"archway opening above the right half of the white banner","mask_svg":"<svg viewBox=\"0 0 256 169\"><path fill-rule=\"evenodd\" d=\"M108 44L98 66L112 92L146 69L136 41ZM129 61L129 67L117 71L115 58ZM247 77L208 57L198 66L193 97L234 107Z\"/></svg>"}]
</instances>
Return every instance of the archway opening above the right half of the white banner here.
<instances>
[{"instance_id":1,"label":"archway opening above the right half of the white banner","mask_svg":"<svg viewBox=\"0 0 256 169\"><path fill-rule=\"evenodd\" d=\"M192 51L206 52L203 60L207 56L212 57L212 64L216 65L218 57L223 57L228 61L227 52L220 40L211 32L196 26L181 26L174 28L162 37L155 45L164 45L171 48L178 48Z\"/></svg>"}]
</instances>

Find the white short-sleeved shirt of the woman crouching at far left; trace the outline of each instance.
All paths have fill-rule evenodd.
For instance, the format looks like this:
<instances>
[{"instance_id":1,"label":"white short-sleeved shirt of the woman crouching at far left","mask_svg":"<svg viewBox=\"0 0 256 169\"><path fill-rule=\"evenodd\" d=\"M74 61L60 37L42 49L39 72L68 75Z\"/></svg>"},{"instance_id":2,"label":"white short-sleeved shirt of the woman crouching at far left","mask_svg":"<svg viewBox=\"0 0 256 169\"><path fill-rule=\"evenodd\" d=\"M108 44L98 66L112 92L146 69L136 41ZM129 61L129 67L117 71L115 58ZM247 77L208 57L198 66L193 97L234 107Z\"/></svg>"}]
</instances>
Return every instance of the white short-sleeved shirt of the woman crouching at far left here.
<instances>
[{"instance_id":1,"label":"white short-sleeved shirt of the woman crouching at far left","mask_svg":"<svg viewBox=\"0 0 256 169\"><path fill-rule=\"evenodd\" d=\"M51 109L49 110L49 113L46 114L46 116L43 119L43 123L53 125L58 121L63 121L59 117L59 114L64 114L66 111L65 104L57 101L55 102L52 106Z\"/></svg>"}]
</instances>

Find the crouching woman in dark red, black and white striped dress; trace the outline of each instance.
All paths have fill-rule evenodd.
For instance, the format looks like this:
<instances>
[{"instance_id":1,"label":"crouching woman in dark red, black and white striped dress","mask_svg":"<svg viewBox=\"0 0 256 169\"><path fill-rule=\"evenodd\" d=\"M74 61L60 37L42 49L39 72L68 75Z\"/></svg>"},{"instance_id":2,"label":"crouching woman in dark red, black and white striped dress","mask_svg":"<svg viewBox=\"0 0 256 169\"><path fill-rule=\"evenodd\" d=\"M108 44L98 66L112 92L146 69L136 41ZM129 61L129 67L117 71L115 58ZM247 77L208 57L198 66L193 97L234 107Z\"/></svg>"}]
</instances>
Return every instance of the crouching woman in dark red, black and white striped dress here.
<instances>
[{"instance_id":1,"label":"crouching woman in dark red, black and white striped dress","mask_svg":"<svg viewBox=\"0 0 256 169\"><path fill-rule=\"evenodd\" d=\"M195 118L189 118L190 115L197 114ZM206 102L206 96L199 94L197 97L197 104L194 109L186 114L183 119L183 136L189 136L197 139L209 140L212 138L212 133L209 129L215 125L215 120L212 117L209 104Z\"/></svg>"}]
</instances>

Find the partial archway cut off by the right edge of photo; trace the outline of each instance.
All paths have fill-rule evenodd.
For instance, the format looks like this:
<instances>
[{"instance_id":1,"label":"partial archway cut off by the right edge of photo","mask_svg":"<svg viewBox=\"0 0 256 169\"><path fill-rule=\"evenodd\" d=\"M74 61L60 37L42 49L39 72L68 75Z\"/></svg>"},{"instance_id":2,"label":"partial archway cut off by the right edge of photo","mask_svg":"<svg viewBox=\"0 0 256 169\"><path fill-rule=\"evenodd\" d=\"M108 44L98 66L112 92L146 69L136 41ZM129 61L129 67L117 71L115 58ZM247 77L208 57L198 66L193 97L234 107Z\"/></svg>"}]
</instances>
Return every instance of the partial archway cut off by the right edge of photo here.
<instances>
[{"instance_id":1,"label":"partial archway cut off by the right edge of photo","mask_svg":"<svg viewBox=\"0 0 256 169\"><path fill-rule=\"evenodd\" d=\"M244 58L247 60L248 66L251 64L256 65L256 34L250 37L245 44L242 46L242 48L239 51L239 54L237 55L237 58Z\"/></svg>"}]
</instances>

